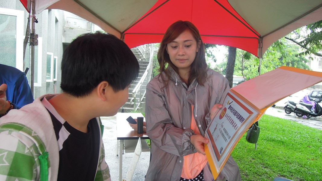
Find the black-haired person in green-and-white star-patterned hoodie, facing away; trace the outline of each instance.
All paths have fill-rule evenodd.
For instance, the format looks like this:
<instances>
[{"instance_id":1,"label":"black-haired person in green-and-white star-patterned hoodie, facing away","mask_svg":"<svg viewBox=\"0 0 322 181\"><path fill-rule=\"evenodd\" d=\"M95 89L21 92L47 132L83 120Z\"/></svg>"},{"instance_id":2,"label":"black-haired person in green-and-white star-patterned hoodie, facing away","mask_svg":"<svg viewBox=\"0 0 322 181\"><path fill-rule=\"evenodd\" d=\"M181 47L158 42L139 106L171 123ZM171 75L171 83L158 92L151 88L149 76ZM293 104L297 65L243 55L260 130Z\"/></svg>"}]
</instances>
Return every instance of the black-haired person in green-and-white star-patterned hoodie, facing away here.
<instances>
[{"instance_id":1,"label":"black-haired person in green-and-white star-patterned hoodie, facing away","mask_svg":"<svg viewBox=\"0 0 322 181\"><path fill-rule=\"evenodd\" d=\"M76 38L62 58L63 93L0 119L0 179L110 180L98 117L117 113L138 70L134 54L115 36Z\"/></svg>"}]
</instances>

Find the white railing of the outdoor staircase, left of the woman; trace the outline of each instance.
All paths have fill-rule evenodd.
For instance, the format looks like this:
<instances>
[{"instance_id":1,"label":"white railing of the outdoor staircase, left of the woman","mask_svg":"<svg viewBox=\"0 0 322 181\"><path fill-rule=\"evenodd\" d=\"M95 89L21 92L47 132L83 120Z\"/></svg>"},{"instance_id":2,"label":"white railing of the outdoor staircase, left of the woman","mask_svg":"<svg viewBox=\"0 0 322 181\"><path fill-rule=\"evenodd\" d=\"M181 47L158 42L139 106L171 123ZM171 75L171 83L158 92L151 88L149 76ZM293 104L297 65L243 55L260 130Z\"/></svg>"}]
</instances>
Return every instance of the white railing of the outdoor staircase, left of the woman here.
<instances>
[{"instance_id":1,"label":"white railing of the outdoor staircase, left of the woman","mask_svg":"<svg viewBox=\"0 0 322 181\"><path fill-rule=\"evenodd\" d=\"M135 88L132 91L133 94L133 110L136 111L140 104L141 101L143 100L145 93L146 93L146 88L147 88L147 83L151 80L151 75L152 75L152 62L153 62L153 45L149 44L149 48L145 51L146 52L146 57L149 58L149 64L147 65L147 69L144 72L142 78L140 81L137 83ZM132 104L132 101L131 101Z\"/></svg>"}]
</instances>

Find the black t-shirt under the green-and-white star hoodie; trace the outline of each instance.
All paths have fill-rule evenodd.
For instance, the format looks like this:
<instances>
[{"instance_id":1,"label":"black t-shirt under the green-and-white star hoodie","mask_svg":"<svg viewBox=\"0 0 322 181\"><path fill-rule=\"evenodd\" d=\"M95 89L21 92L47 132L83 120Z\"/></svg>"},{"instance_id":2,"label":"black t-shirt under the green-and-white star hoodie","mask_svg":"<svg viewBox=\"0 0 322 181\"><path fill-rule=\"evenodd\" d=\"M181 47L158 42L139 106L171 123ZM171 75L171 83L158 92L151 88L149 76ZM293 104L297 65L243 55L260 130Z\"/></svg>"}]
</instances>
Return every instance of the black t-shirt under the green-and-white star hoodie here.
<instances>
[{"instance_id":1,"label":"black t-shirt under the green-and-white star hoodie","mask_svg":"<svg viewBox=\"0 0 322 181\"><path fill-rule=\"evenodd\" d=\"M54 126L58 148L59 168L57 180L94 180L99 161L99 125L91 119L87 133L61 123L48 111Z\"/></svg>"}]
</instances>

